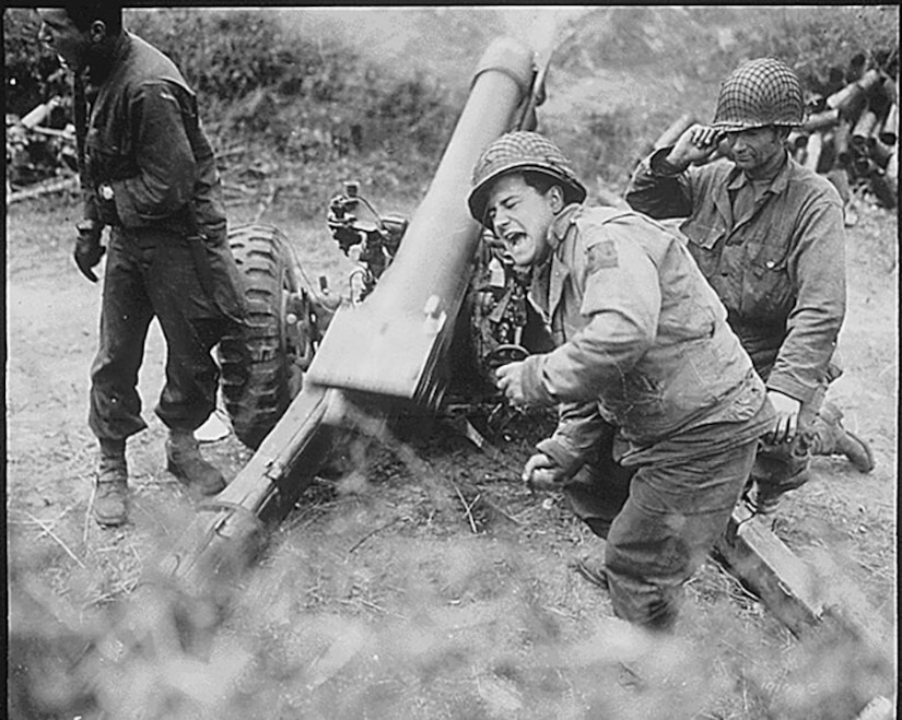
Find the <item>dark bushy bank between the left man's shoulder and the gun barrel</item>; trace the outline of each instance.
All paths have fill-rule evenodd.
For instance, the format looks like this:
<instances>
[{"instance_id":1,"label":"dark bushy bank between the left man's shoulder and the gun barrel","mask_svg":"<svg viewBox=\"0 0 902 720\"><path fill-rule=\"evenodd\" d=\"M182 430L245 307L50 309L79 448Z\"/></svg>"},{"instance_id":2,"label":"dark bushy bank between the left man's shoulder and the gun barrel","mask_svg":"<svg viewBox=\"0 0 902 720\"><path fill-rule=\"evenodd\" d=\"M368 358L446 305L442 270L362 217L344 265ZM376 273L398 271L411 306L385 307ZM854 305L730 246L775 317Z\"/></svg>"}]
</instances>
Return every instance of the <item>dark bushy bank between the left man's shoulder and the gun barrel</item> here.
<instances>
[{"instance_id":1,"label":"dark bushy bank between the left man's shoulder and the gun barrel","mask_svg":"<svg viewBox=\"0 0 902 720\"><path fill-rule=\"evenodd\" d=\"M432 154L447 135L441 87L364 62L347 45L298 37L276 15L133 11L129 27L213 103L222 132L251 134L290 157L333 160L394 135Z\"/></svg>"}]
</instances>

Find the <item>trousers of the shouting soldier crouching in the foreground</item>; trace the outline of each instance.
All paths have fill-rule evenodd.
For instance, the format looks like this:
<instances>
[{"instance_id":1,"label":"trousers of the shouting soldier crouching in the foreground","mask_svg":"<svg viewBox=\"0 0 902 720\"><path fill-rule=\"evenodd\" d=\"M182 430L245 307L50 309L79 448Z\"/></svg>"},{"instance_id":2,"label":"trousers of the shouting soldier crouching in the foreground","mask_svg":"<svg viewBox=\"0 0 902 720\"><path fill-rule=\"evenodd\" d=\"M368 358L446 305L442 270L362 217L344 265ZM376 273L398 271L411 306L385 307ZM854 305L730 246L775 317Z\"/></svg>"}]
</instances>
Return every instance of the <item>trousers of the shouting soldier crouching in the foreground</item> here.
<instances>
[{"instance_id":1,"label":"trousers of the shouting soldier crouching in the foreground","mask_svg":"<svg viewBox=\"0 0 902 720\"><path fill-rule=\"evenodd\" d=\"M575 515L607 539L605 569L618 617L653 629L676 621L683 583L725 531L754 462L757 437L740 435L731 444L736 429L703 426L687 445L693 451L680 452L675 442L657 458L653 450L651 461L623 467L613 459L610 428L597 460L564 486Z\"/></svg>"}]
</instances>

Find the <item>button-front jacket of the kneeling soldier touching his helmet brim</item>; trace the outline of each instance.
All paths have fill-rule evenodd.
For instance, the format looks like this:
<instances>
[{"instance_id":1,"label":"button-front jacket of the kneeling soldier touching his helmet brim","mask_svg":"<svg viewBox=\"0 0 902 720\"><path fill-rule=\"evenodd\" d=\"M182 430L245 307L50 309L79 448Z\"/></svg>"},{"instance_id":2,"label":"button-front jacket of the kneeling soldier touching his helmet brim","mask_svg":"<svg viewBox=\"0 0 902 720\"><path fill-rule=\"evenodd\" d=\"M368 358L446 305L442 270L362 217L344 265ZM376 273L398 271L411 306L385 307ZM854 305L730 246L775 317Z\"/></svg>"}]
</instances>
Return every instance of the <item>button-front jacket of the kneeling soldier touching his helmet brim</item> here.
<instances>
[{"instance_id":1,"label":"button-front jacket of the kneeling soldier touching his helmet brim","mask_svg":"<svg viewBox=\"0 0 902 720\"><path fill-rule=\"evenodd\" d=\"M634 210L686 217L680 229L729 322L768 380L803 403L837 375L831 365L845 315L842 200L792 157L745 217L731 194L749 182L719 161L668 173L665 147L644 160L626 192Z\"/></svg>"}]
</instances>

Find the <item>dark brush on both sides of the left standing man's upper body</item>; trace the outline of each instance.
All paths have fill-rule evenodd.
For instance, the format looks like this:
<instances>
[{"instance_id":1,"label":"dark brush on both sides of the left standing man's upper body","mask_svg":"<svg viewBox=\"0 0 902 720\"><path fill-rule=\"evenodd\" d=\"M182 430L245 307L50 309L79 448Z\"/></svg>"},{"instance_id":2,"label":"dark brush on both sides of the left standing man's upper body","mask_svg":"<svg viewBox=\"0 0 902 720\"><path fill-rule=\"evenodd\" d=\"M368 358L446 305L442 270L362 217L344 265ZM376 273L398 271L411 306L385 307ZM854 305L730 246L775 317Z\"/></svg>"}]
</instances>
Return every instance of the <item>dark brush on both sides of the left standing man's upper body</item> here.
<instances>
[{"instance_id":1,"label":"dark brush on both sides of the left standing man's upper body","mask_svg":"<svg viewBox=\"0 0 902 720\"><path fill-rule=\"evenodd\" d=\"M300 36L273 12L132 9L125 24L183 72L214 146L244 146L269 165L304 163L327 193L340 188L347 175L333 176L349 164L377 168L374 179L389 189L415 182L434 167L457 115L424 73L364 61L347 43ZM37 28L33 11L4 14L10 109L71 93ZM308 204L321 211L318 198Z\"/></svg>"}]
</instances>

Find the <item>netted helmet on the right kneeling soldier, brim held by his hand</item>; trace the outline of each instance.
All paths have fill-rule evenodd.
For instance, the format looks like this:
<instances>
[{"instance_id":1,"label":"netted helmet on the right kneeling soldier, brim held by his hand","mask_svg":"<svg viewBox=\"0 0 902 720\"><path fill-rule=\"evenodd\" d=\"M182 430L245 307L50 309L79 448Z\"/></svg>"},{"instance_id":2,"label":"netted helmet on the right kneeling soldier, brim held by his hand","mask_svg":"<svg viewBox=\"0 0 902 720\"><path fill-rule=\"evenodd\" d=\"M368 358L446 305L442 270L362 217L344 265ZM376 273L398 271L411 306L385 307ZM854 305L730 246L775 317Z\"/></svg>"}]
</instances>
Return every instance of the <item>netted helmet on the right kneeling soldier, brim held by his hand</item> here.
<instances>
[{"instance_id":1,"label":"netted helmet on the right kneeling soldier, brim held by his hand","mask_svg":"<svg viewBox=\"0 0 902 720\"><path fill-rule=\"evenodd\" d=\"M712 127L737 132L770 125L798 126L805 119L801 84L784 62L743 62L721 85Z\"/></svg>"}]
</instances>

